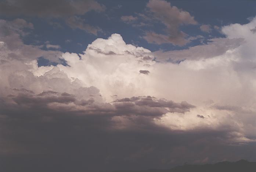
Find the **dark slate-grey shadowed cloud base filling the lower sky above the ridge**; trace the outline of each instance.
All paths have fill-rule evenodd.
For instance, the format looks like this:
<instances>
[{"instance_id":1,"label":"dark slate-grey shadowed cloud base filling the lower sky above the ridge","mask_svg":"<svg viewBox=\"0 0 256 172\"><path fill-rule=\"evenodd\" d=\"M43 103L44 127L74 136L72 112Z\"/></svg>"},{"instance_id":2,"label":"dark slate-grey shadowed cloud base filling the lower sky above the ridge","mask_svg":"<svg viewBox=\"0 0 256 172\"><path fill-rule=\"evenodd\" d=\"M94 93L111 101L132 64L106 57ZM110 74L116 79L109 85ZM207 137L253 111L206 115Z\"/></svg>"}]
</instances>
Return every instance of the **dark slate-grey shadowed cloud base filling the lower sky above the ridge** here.
<instances>
[{"instance_id":1,"label":"dark slate-grey shadowed cloud base filling the lower sky above the ridge","mask_svg":"<svg viewBox=\"0 0 256 172\"><path fill-rule=\"evenodd\" d=\"M35 96L39 99L43 97L45 103L57 101L65 104L66 101L53 99L57 95L60 98L72 96L53 91L23 96L32 100ZM151 99L154 98L132 97L116 100L115 103L142 101L140 107L169 106L168 103L152 103ZM123 116L122 120L130 122L127 127L120 125L118 120L112 120L113 116L108 111L90 114L90 111L73 111L72 107L51 109L39 106L37 101L28 102L34 106L12 104L7 98L0 101L0 163L3 171L84 172L170 168L205 157L209 157L208 162L224 158L236 161L241 157L253 160L256 153L253 143L228 146L231 130L228 127L218 131L170 131L154 124L152 118L147 116ZM114 129L115 126L119 128Z\"/></svg>"}]
</instances>

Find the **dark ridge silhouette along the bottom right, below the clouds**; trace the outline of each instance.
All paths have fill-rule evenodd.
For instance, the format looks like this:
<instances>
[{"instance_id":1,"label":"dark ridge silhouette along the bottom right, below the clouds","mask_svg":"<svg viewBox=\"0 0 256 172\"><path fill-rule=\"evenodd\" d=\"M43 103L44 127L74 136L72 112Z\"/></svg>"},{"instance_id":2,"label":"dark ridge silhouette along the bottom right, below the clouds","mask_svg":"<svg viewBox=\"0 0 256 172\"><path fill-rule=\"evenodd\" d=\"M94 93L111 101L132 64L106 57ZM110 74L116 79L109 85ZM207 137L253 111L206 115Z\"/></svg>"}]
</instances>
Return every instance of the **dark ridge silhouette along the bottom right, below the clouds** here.
<instances>
[{"instance_id":1,"label":"dark ridge silhouette along the bottom right, below the clouds","mask_svg":"<svg viewBox=\"0 0 256 172\"><path fill-rule=\"evenodd\" d=\"M256 162L239 160L237 162L218 162L205 165L182 165L171 169L149 169L141 171L112 171L112 172L256 172Z\"/></svg>"}]
</instances>

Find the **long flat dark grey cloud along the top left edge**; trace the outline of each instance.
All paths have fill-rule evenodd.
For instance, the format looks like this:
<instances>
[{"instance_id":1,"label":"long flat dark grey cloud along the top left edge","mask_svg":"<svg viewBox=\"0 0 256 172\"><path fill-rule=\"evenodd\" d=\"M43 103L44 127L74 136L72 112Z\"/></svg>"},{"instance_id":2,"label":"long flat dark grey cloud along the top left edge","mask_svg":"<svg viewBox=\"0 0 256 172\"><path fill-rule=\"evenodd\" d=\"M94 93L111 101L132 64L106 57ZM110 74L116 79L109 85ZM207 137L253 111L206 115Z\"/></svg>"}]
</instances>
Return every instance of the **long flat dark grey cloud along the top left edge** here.
<instances>
[{"instance_id":1,"label":"long flat dark grey cloud along the top left edge","mask_svg":"<svg viewBox=\"0 0 256 172\"><path fill-rule=\"evenodd\" d=\"M88 11L104 11L105 7L94 0L3 0L0 14L28 15L32 17L63 18L83 15Z\"/></svg>"}]
</instances>

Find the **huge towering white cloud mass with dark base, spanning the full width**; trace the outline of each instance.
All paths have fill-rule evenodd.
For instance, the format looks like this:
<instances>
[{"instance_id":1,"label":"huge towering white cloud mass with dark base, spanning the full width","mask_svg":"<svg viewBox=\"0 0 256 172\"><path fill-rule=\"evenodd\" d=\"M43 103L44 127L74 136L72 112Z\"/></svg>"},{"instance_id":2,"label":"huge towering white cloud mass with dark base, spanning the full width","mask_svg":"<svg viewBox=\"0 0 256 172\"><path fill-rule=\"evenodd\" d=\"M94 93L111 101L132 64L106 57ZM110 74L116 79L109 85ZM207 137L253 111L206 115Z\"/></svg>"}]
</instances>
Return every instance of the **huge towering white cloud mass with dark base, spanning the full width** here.
<instances>
[{"instance_id":1,"label":"huge towering white cloud mass with dark base, spanning the full width","mask_svg":"<svg viewBox=\"0 0 256 172\"><path fill-rule=\"evenodd\" d=\"M57 51L25 45L20 35L28 23L0 23L4 171L255 160L256 19L224 26L226 38L166 54L112 34L82 54L61 53L65 66L40 67L39 55Z\"/></svg>"}]
</instances>

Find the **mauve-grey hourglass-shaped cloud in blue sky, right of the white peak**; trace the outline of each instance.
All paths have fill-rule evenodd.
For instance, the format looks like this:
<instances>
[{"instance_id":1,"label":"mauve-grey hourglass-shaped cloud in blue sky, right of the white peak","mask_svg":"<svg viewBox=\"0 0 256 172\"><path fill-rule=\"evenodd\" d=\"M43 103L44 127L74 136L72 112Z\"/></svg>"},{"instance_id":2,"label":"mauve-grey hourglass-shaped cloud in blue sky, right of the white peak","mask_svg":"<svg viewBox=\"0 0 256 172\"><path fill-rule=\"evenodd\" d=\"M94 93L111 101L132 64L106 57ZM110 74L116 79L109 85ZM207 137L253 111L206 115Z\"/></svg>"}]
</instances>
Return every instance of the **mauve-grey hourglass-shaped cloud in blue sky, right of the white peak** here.
<instances>
[{"instance_id":1,"label":"mauve-grey hourglass-shaped cloud in blue sky, right of the white peak","mask_svg":"<svg viewBox=\"0 0 256 172\"><path fill-rule=\"evenodd\" d=\"M144 39L149 43L163 44L171 43L173 45L185 45L190 42L186 39L187 34L180 31L181 25L195 25L197 22L189 12L171 6L167 1L151 0L147 4L152 18L163 23L166 26L166 34L158 34L152 31L145 32Z\"/></svg>"}]
</instances>

